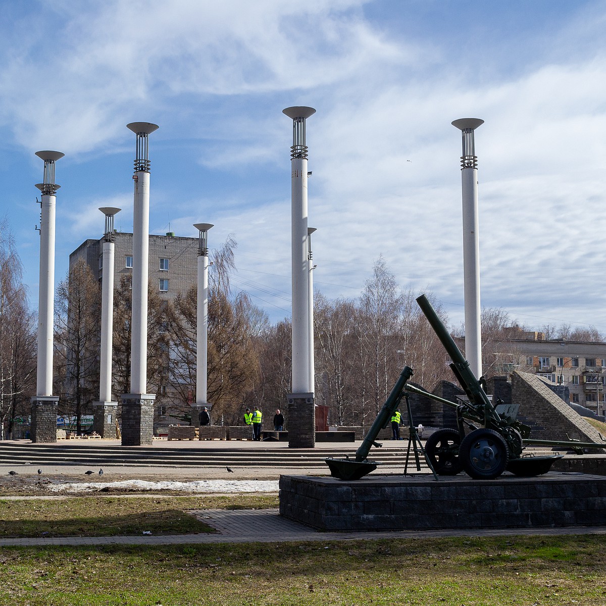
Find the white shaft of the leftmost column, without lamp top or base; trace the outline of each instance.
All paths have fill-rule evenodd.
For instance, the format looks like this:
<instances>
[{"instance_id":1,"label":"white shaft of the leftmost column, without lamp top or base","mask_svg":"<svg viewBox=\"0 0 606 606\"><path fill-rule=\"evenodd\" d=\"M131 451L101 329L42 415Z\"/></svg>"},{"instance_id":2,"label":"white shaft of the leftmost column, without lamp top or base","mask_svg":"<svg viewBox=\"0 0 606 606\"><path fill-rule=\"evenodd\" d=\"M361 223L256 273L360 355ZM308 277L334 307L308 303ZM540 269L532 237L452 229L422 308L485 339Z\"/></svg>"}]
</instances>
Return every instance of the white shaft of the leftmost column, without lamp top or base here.
<instances>
[{"instance_id":1,"label":"white shaft of the leftmost column, without lamp top or base","mask_svg":"<svg viewBox=\"0 0 606 606\"><path fill-rule=\"evenodd\" d=\"M40 222L40 285L38 299L38 375L36 395L53 394L53 330L55 327L56 196L42 195Z\"/></svg>"}]
</instances>

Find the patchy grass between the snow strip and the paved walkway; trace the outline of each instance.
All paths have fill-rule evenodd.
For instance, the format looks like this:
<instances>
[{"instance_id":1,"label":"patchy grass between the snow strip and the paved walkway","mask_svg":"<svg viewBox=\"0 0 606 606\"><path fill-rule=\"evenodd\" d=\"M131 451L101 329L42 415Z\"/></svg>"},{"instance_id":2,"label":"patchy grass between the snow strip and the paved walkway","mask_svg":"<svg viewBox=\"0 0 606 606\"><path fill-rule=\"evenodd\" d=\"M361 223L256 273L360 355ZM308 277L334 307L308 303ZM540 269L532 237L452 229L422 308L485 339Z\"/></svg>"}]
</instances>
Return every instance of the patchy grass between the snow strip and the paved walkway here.
<instances>
[{"instance_id":1,"label":"patchy grass between the snow strip and the paved walkway","mask_svg":"<svg viewBox=\"0 0 606 606\"><path fill-rule=\"evenodd\" d=\"M0 537L115 536L213 532L188 509L278 507L278 496L0 499Z\"/></svg>"}]
</instances>

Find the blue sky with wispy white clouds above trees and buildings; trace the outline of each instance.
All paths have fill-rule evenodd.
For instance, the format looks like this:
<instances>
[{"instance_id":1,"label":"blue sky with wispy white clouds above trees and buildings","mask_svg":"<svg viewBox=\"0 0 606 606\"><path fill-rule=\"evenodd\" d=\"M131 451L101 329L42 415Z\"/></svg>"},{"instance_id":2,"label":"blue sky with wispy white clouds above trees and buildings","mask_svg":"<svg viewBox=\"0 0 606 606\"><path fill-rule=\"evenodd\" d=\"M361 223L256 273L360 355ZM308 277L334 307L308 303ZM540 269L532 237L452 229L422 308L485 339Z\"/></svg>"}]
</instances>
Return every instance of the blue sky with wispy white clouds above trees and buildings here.
<instances>
[{"instance_id":1,"label":"blue sky with wispy white clouds above trees and buildings","mask_svg":"<svg viewBox=\"0 0 606 606\"><path fill-rule=\"evenodd\" d=\"M235 291L290 316L290 145L308 105L316 291L382 256L463 319L461 133L476 130L483 307L606 333L605 0L0 0L0 215L38 302L39 150L58 150L56 282L132 231L153 122L150 232L238 242Z\"/></svg>"}]
</instances>

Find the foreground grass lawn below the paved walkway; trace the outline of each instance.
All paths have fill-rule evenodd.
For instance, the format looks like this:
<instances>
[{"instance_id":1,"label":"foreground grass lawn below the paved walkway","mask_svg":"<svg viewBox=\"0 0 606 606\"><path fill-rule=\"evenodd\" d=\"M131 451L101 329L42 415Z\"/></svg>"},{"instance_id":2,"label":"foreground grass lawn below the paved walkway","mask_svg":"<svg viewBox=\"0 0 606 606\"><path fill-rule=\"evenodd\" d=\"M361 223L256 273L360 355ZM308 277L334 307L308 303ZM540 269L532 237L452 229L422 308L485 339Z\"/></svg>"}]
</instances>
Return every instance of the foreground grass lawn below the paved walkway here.
<instances>
[{"instance_id":1,"label":"foreground grass lawn below the paved walkway","mask_svg":"<svg viewBox=\"0 0 606 606\"><path fill-rule=\"evenodd\" d=\"M604 538L0 548L0 604L606 604Z\"/></svg>"}]
</instances>

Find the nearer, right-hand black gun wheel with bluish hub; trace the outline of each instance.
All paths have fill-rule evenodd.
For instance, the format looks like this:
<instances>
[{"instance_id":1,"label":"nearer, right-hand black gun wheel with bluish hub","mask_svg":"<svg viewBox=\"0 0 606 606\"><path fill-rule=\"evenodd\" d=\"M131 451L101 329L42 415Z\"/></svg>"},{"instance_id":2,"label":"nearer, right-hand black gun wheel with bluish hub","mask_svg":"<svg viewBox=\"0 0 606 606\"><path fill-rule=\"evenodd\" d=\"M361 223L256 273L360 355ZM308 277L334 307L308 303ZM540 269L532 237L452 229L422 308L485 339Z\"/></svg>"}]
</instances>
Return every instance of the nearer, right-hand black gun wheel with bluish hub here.
<instances>
[{"instance_id":1,"label":"nearer, right-hand black gun wheel with bluish hub","mask_svg":"<svg viewBox=\"0 0 606 606\"><path fill-rule=\"evenodd\" d=\"M464 470L476 480L498 478L507 467L507 442L496 431L476 429L461 442L459 458Z\"/></svg>"}]
</instances>

